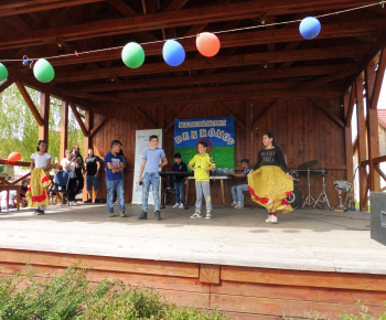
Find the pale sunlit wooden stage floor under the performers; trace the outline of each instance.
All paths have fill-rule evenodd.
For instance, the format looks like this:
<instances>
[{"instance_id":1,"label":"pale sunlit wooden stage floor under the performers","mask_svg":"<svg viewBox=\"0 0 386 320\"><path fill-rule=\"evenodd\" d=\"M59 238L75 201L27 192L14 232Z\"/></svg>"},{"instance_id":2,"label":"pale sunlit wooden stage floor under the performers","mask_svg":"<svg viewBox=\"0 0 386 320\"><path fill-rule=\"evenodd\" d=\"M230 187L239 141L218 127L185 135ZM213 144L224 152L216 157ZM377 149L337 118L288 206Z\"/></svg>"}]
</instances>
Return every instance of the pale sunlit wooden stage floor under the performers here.
<instances>
[{"instance_id":1,"label":"pale sunlit wooden stage floor under the performers","mask_svg":"<svg viewBox=\"0 0 386 320\"><path fill-rule=\"evenodd\" d=\"M150 206L150 210L152 206ZM118 207L115 207L116 214ZM50 206L0 213L0 247L151 260L386 275L386 246L371 238L367 212L297 210L265 222L262 209L217 206L213 218L192 220L194 209L162 210L138 221L108 217L106 204Z\"/></svg>"}]
</instances>

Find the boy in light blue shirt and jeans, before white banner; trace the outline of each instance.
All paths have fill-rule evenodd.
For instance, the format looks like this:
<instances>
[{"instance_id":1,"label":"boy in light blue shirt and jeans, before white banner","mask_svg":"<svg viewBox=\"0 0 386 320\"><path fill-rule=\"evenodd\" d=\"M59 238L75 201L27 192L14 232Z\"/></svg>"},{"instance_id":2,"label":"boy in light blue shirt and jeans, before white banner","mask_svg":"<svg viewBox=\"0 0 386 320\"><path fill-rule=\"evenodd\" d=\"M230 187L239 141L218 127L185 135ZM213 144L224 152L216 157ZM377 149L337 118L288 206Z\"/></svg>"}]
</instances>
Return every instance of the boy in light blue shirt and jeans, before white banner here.
<instances>
[{"instance_id":1,"label":"boy in light blue shirt and jeans, before white banner","mask_svg":"<svg viewBox=\"0 0 386 320\"><path fill-rule=\"evenodd\" d=\"M142 212L138 220L148 218L148 199L150 184L154 196L154 216L156 220L161 220L161 200L160 200L160 173L159 169L168 164L167 156L163 149L158 148L159 139L156 135L149 138L150 149L146 150L142 158L141 168L139 171L139 184L142 185ZM160 164L160 160L162 160ZM142 177L143 173L143 177Z\"/></svg>"}]
</instances>

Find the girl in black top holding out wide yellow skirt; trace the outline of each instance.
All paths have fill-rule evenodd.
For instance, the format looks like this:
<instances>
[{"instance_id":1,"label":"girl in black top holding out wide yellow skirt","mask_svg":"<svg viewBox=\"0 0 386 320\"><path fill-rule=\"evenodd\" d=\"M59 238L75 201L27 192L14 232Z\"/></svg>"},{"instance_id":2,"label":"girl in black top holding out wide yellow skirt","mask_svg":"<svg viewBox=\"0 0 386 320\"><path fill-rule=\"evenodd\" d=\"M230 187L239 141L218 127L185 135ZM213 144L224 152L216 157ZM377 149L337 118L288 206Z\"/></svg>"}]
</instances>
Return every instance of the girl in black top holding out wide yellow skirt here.
<instances>
[{"instance_id":1,"label":"girl in black top holding out wide yellow skirt","mask_svg":"<svg viewBox=\"0 0 386 320\"><path fill-rule=\"evenodd\" d=\"M266 222L277 223L277 211L292 211L286 198L293 191L293 178L282 154L276 145L275 136L267 132L262 136L264 149L259 151L257 162L248 174L248 189L251 199L268 211ZM281 167L281 169L280 169Z\"/></svg>"}]
</instances>

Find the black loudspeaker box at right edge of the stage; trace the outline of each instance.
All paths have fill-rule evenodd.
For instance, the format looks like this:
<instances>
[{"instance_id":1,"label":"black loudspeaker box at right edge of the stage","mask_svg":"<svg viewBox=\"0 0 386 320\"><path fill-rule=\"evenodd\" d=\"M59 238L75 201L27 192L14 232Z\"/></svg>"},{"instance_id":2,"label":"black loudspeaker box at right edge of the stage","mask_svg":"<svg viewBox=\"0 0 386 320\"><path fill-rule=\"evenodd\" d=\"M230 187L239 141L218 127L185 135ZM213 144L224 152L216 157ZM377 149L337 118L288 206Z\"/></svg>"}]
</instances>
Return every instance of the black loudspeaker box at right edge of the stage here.
<instances>
[{"instance_id":1,"label":"black loudspeaker box at right edge of the stage","mask_svg":"<svg viewBox=\"0 0 386 320\"><path fill-rule=\"evenodd\" d=\"M369 205L372 238L386 245L386 193L372 192L369 194Z\"/></svg>"}]
</instances>

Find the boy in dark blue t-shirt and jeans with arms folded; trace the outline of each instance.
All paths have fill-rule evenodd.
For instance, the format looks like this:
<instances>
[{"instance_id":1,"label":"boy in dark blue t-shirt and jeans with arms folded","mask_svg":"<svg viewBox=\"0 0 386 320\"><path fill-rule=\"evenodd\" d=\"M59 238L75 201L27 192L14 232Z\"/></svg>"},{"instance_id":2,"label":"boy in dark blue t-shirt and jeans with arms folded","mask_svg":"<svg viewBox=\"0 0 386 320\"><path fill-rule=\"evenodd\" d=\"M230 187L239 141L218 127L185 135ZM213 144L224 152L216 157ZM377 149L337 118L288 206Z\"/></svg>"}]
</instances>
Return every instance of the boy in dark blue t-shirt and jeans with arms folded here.
<instances>
[{"instance_id":1,"label":"boy in dark blue t-shirt and jeans with arms folded","mask_svg":"<svg viewBox=\"0 0 386 320\"><path fill-rule=\"evenodd\" d=\"M119 203L119 215L125 217L125 186L124 186L124 162L120 156L118 156L122 143L118 140L111 142L111 151L105 157L106 163L106 189L107 189L107 209L108 216L112 217L114 214L114 194L117 191Z\"/></svg>"}]
</instances>

